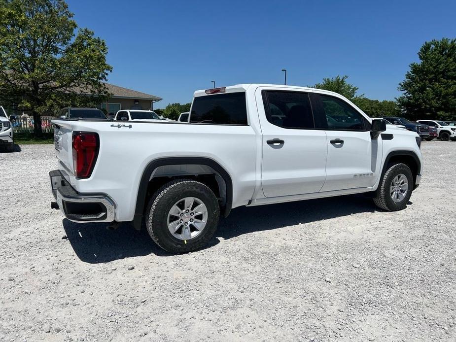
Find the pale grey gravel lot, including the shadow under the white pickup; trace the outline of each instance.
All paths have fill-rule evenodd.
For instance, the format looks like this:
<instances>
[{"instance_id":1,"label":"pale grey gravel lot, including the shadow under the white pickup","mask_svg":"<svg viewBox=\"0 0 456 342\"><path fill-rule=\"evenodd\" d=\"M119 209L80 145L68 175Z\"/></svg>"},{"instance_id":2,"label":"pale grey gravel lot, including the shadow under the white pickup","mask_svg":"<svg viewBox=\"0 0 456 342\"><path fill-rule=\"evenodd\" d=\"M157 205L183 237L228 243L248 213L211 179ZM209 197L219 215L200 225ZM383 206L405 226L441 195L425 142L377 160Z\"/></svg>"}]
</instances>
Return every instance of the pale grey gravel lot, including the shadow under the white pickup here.
<instances>
[{"instance_id":1,"label":"pale grey gravel lot, including the shadow under the white pickup","mask_svg":"<svg viewBox=\"0 0 456 342\"><path fill-rule=\"evenodd\" d=\"M422 151L403 211L238 208L186 255L51 210L52 145L0 153L0 341L455 341L456 143Z\"/></svg>"}]
</instances>

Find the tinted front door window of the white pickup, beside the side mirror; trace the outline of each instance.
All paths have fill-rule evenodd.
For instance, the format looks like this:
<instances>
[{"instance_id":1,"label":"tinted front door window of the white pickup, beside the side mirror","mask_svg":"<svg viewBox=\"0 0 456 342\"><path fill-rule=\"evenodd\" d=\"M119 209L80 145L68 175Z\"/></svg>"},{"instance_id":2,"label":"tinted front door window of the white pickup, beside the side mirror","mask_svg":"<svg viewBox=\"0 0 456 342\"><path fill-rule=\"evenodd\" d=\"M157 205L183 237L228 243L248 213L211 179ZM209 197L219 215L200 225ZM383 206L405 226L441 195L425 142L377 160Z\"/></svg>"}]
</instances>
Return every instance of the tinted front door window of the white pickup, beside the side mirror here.
<instances>
[{"instance_id":1,"label":"tinted front door window of the white pickup, beside the side mirror","mask_svg":"<svg viewBox=\"0 0 456 342\"><path fill-rule=\"evenodd\" d=\"M332 96L320 95L328 129L363 131L366 124L363 116L350 104Z\"/></svg>"}]
</instances>

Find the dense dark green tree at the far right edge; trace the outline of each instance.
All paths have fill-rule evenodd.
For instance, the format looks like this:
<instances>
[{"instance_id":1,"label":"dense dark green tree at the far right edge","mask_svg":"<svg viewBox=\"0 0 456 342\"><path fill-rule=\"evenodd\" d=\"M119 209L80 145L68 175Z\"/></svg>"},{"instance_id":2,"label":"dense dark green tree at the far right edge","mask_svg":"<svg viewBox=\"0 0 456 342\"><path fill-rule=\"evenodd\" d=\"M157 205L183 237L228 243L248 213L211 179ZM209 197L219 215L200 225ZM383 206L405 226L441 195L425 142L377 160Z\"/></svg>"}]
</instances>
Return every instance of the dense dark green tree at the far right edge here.
<instances>
[{"instance_id":1,"label":"dense dark green tree at the far right edge","mask_svg":"<svg viewBox=\"0 0 456 342\"><path fill-rule=\"evenodd\" d=\"M425 42L419 63L410 64L399 83L397 101L412 120L456 120L456 39Z\"/></svg>"}]
</instances>

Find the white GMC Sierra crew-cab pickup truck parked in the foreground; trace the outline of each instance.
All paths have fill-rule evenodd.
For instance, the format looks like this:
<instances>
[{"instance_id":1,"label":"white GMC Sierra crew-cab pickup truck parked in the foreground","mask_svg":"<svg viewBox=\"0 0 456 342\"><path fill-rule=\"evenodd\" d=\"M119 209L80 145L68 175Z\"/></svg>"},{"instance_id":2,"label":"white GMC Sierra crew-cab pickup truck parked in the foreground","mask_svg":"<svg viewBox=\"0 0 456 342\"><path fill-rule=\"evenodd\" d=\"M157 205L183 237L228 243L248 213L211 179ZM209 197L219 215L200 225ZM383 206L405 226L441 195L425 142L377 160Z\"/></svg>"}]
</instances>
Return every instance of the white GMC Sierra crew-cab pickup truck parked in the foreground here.
<instances>
[{"instance_id":1,"label":"white GMC Sierra crew-cab pickup truck parked in the foreground","mask_svg":"<svg viewBox=\"0 0 456 342\"><path fill-rule=\"evenodd\" d=\"M205 246L232 208L366 193L394 211L421 180L416 133L313 88L196 91L188 123L53 123L51 206L80 223L145 221L176 253Z\"/></svg>"}]
</instances>

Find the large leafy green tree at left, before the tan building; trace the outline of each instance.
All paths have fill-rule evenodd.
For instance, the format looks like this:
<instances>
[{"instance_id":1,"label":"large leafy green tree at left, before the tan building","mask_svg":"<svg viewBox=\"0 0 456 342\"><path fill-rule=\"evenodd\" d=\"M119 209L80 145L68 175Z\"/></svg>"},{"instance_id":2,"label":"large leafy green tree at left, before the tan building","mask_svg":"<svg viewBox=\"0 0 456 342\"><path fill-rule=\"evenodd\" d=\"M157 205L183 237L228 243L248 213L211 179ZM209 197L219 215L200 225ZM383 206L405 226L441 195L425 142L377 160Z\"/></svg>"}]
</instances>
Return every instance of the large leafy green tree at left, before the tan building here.
<instances>
[{"instance_id":1,"label":"large leafy green tree at left, before the tan building","mask_svg":"<svg viewBox=\"0 0 456 342\"><path fill-rule=\"evenodd\" d=\"M0 0L0 100L31 110L38 136L40 115L109 98L105 41L72 17L64 0Z\"/></svg>"}]
</instances>

